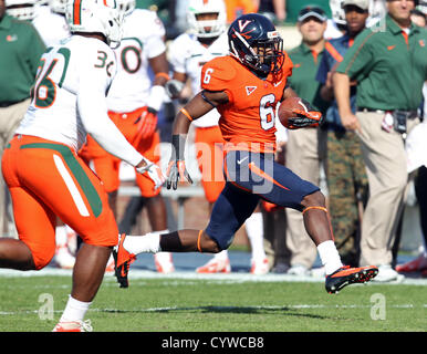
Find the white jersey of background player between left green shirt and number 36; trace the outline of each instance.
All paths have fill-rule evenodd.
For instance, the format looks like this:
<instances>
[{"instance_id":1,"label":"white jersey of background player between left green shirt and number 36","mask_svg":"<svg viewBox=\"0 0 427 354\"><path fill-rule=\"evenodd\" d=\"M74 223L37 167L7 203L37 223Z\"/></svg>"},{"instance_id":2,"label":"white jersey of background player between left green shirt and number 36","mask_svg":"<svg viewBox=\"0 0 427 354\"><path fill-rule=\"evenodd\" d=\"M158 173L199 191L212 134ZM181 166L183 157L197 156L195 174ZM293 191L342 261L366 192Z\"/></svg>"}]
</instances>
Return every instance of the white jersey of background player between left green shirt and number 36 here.
<instances>
[{"instance_id":1,"label":"white jersey of background player between left green shirt and number 36","mask_svg":"<svg viewBox=\"0 0 427 354\"><path fill-rule=\"evenodd\" d=\"M32 24L46 46L58 45L71 35L65 15L52 12L48 6L35 7Z\"/></svg>"}]
</instances>

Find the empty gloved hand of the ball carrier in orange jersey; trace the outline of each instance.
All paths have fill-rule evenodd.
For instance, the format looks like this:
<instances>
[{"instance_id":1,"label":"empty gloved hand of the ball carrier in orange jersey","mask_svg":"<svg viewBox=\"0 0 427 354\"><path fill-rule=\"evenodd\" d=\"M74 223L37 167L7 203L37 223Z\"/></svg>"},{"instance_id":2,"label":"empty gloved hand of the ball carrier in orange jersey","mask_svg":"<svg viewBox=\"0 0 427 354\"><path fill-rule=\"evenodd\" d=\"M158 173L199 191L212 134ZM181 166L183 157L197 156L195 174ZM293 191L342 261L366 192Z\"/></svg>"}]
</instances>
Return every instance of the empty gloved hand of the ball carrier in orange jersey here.
<instances>
[{"instance_id":1,"label":"empty gloved hand of the ball carrier in orange jersey","mask_svg":"<svg viewBox=\"0 0 427 354\"><path fill-rule=\"evenodd\" d=\"M173 135L171 144L173 152L170 156L170 162L167 168L167 179L166 179L166 188L177 189L178 181L187 179L190 184L192 184L192 179L187 171L186 164L184 160L184 146L185 146L186 137L183 135Z\"/></svg>"}]
</instances>

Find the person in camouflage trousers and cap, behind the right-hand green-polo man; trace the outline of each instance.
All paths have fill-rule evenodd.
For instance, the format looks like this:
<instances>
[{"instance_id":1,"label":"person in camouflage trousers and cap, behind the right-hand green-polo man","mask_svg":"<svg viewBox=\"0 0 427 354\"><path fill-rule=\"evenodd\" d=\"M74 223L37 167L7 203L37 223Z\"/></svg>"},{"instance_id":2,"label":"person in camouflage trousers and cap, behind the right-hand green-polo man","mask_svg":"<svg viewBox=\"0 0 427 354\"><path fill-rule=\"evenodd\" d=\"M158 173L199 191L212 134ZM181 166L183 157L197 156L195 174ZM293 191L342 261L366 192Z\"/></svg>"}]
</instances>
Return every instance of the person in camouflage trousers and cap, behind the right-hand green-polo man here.
<instances>
[{"instance_id":1,"label":"person in camouflage trousers and cap, behind the right-hand green-polo man","mask_svg":"<svg viewBox=\"0 0 427 354\"><path fill-rule=\"evenodd\" d=\"M345 264L358 264L361 216L358 205L366 204L368 184L362 157L361 140L354 132L341 124L334 100L332 75L343 55L366 24L369 0L344 0L346 33L325 43L325 54L319 66L316 80L322 84L321 95L333 101L326 112L327 153L325 157L330 212L335 244ZM352 112L356 110L356 85L351 87Z\"/></svg>"}]
</instances>

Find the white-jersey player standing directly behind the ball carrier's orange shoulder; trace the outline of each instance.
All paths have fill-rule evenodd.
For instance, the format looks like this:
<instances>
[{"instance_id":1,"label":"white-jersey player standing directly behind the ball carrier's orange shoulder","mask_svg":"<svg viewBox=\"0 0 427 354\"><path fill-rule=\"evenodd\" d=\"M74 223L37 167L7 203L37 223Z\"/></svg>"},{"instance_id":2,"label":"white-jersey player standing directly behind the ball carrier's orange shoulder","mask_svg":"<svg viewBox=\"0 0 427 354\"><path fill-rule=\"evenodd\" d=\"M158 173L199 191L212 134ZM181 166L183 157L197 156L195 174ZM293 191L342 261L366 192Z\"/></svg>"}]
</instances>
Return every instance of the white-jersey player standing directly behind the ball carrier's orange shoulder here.
<instances>
[{"instance_id":1,"label":"white-jersey player standing directly behind the ball carrier's orange shoulder","mask_svg":"<svg viewBox=\"0 0 427 354\"><path fill-rule=\"evenodd\" d=\"M185 82L189 79L194 94L200 91L201 66L216 56L229 52L226 32L227 13L222 0L190 0L187 21L189 31L180 34L170 44L168 56L174 66L174 77L167 84L171 98L179 96ZM210 111L195 125L195 144L201 171L201 184L209 208L214 206L225 186L222 176L222 139L218 127L219 113ZM263 248L263 219L259 209L244 223L251 243L251 273L264 274L269 270ZM207 264L196 269L198 273L230 272L227 250L216 253Z\"/></svg>"}]
</instances>

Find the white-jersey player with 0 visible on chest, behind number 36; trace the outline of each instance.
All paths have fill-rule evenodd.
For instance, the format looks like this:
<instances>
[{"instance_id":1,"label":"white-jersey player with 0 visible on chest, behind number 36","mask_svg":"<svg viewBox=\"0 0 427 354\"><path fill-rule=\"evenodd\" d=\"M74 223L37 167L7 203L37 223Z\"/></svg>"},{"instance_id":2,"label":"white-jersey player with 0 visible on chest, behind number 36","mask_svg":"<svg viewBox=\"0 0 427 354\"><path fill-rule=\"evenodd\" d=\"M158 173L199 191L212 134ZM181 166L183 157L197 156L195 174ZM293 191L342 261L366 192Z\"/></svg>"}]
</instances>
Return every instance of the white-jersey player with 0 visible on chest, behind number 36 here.
<instances>
[{"instance_id":1,"label":"white-jersey player with 0 visible on chest, behind number 36","mask_svg":"<svg viewBox=\"0 0 427 354\"><path fill-rule=\"evenodd\" d=\"M138 152L154 163L159 163L157 112L165 97L164 85L169 79L165 28L154 11L135 9L135 0L118 0L117 4L125 13L124 34L121 45L114 50L117 74L107 95L108 115ZM155 75L153 84L149 70ZM87 140L81 155L92 160L96 175L108 192L111 206L116 210L119 159L107 154L93 139ZM152 184L138 175L136 183L145 198L152 230L165 232L167 215L160 189L154 191ZM158 272L169 273L175 270L170 253L160 252L154 259Z\"/></svg>"}]
</instances>

